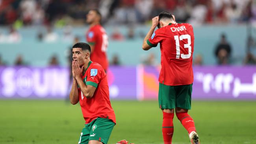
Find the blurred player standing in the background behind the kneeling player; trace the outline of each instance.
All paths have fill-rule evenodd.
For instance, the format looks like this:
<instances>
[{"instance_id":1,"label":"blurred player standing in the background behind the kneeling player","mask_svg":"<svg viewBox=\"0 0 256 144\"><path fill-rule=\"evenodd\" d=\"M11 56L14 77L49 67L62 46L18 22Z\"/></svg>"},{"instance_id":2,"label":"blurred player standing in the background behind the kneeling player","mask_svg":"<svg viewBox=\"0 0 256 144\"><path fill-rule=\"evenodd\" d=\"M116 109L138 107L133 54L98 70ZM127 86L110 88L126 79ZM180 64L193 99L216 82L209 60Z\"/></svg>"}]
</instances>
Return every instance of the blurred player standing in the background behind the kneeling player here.
<instances>
[{"instance_id":1,"label":"blurred player standing in the background behind the kneeling player","mask_svg":"<svg viewBox=\"0 0 256 144\"><path fill-rule=\"evenodd\" d=\"M86 22L90 25L86 33L86 40L91 46L91 60L99 63L105 70L108 69L108 35L100 25L101 14L97 9L90 10L86 16Z\"/></svg>"}]
</instances>

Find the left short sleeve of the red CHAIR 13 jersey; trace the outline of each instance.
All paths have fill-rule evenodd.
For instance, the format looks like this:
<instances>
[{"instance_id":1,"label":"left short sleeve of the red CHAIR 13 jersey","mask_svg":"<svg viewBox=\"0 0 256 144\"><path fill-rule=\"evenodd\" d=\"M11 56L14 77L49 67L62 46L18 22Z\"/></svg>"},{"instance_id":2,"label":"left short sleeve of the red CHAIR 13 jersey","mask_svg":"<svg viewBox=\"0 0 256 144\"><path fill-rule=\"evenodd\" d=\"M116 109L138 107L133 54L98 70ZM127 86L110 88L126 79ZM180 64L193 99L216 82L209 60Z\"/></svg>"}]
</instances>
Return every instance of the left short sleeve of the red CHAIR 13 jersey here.
<instances>
[{"instance_id":1,"label":"left short sleeve of the red CHAIR 13 jersey","mask_svg":"<svg viewBox=\"0 0 256 144\"><path fill-rule=\"evenodd\" d=\"M161 29L156 30L152 36L147 40L147 44L151 47L156 47L158 42L164 39L164 33Z\"/></svg>"}]
</instances>

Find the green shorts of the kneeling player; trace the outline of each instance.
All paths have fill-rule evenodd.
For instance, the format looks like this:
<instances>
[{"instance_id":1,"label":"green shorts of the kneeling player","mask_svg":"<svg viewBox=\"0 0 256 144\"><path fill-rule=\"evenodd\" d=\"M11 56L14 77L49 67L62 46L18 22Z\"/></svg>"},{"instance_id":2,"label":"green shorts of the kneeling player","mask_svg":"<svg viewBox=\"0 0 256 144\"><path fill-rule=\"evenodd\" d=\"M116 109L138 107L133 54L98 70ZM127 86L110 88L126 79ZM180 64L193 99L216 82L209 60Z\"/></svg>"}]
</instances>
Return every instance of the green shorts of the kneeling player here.
<instances>
[{"instance_id":1,"label":"green shorts of the kneeling player","mask_svg":"<svg viewBox=\"0 0 256 144\"><path fill-rule=\"evenodd\" d=\"M107 118L96 118L89 124L85 124L78 144L88 144L89 140L98 140L107 144L114 126L115 123Z\"/></svg>"}]
</instances>

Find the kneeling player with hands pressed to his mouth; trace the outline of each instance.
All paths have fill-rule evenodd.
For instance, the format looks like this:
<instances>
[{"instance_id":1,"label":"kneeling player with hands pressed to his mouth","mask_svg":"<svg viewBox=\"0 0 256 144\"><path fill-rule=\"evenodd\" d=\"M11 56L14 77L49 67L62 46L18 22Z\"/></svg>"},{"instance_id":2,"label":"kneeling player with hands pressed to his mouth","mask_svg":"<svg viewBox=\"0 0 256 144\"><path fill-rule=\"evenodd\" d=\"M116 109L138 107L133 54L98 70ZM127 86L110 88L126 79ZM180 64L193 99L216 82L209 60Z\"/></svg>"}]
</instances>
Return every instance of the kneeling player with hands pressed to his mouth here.
<instances>
[{"instance_id":1,"label":"kneeling player with hands pressed to his mouth","mask_svg":"<svg viewBox=\"0 0 256 144\"><path fill-rule=\"evenodd\" d=\"M73 105L80 102L85 120L78 144L107 144L116 121L106 72L90 60L89 44L74 44L72 54L73 84L69 98Z\"/></svg>"}]
</instances>

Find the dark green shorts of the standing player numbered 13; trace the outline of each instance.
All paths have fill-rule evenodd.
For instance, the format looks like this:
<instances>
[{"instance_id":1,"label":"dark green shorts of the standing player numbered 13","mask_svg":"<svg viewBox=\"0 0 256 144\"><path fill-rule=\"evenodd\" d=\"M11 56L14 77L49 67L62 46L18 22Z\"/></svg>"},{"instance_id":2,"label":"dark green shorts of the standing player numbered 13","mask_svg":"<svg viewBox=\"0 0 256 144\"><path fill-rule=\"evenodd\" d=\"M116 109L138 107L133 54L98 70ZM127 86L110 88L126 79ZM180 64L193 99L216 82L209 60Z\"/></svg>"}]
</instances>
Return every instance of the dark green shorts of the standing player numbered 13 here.
<instances>
[{"instance_id":1,"label":"dark green shorts of the standing player numbered 13","mask_svg":"<svg viewBox=\"0 0 256 144\"><path fill-rule=\"evenodd\" d=\"M158 102L160 109L191 109L192 84L169 86L159 83Z\"/></svg>"}]
</instances>

